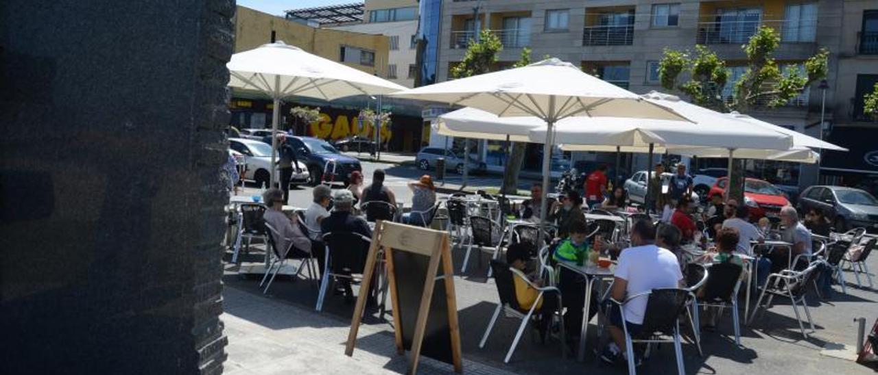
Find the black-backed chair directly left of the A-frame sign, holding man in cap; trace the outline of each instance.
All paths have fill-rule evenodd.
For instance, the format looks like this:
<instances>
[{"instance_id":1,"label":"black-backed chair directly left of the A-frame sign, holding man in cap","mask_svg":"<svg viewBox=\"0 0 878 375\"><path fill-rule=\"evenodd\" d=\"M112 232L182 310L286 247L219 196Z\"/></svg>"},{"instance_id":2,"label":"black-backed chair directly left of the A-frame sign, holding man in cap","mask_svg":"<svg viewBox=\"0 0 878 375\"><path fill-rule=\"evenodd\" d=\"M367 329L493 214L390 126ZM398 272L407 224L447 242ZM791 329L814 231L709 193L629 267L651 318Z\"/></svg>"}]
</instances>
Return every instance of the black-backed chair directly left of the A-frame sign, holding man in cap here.
<instances>
[{"instance_id":1,"label":"black-backed chair directly left of the A-frame sign, holding man in cap","mask_svg":"<svg viewBox=\"0 0 878 375\"><path fill-rule=\"evenodd\" d=\"M317 295L317 311L323 309L329 283L334 278L355 279L356 275L362 277L371 238L353 232L334 232L324 234L323 243L326 244L326 263L321 273L323 279ZM361 290L360 293L366 292Z\"/></svg>"}]
</instances>

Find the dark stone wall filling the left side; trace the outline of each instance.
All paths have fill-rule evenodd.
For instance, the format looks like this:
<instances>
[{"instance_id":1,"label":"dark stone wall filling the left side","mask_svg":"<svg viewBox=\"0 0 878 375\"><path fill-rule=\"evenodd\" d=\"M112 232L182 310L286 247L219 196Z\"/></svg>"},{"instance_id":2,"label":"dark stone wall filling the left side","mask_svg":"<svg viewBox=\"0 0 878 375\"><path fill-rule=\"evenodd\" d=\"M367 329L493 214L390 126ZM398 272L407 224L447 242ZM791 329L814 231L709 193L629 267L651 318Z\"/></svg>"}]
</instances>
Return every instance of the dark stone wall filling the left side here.
<instances>
[{"instance_id":1,"label":"dark stone wall filling the left side","mask_svg":"<svg viewBox=\"0 0 878 375\"><path fill-rule=\"evenodd\" d=\"M220 373L234 0L0 5L0 373Z\"/></svg>"}]
</instances>

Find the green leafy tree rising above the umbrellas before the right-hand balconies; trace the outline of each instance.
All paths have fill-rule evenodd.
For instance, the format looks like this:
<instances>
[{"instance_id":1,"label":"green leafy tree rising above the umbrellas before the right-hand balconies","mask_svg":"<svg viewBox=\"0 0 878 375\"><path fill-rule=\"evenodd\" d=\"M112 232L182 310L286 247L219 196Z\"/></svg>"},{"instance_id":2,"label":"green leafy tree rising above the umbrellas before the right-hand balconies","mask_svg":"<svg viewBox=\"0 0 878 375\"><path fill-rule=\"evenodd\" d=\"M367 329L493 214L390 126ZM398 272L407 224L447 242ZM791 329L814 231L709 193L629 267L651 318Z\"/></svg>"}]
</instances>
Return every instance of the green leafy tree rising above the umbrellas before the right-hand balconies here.
<instances>
[{"instance_id":1,"label":"green leafy tree rising above the umbrellas before the right-hand balconies","mask_svg":"<svg viewBox=\"0 0 878 375\"><path fill-rule=\"evenodd\" d=\"M781 37L773 28L762 26L741 48L747 60L745 73L735 82L731 98L723 98L729 81L725 61L706 46L695 46L694 53L666 49L659 62L659 80L663 88L676 89L693 103L711 110L746 113L758 107L778 107L802 93L817 80L824 79L829 51L821 49L797 68L781 70L773 54ZM681 76L686 75L683 79ZM729 196L742 202L743 170L736 162L730 176Z\"/></svg>"}]
</instances>

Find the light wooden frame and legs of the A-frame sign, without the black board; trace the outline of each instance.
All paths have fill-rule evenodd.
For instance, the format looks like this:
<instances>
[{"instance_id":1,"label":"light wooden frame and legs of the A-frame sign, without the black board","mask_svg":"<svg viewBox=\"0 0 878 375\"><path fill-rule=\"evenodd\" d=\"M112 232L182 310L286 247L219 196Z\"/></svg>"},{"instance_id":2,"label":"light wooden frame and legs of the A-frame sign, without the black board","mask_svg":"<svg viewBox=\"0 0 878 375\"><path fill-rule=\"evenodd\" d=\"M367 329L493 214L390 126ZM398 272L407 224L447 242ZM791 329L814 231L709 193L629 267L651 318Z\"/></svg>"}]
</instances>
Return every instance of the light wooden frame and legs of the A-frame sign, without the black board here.
<instances>
[{"instance_id":1,"label":"light wooden frame and legs of the A-frame sign, without the black board","mask_svg":"<svg viewBox=\"0 0 878 375\"><path fill-rule=\"evenodd\" d=\"M445 299L446 305L448 306L448 327L450 330L452 364L454 365L454 371L461 373L463 371L463 364L460 346L460 327L457 322L457 298L454 293L454 265L452 265L451 261L448 232L429 230L400 223L378 221L375 226L375 231L372 233L369 255L368 258L366 258L365 270L363 270L363 282L360 286L361 291L369 290L380 250L384 250L385 254L388 290L390 290L391 295L394 322L393 331L396 339L396 350L400 355L405 353L405 346L403 343L402 327L400 326L401 312L399 310L397 280L394 273L396 265L394 265L393 251L407 251L429 257L427 272L426 275L424 275L424 289L421 294L421 304L418 308L417 319L414 323L414 337L411 346L412 357L408 371L408 373L412 375L417 371L418 359L421 356L421 344L424 339L425 330L427 329L430 302L433 300L434 287L438 281L436 279L436 274L439 270L439 262L442 262L443 276L440 278L444 281ZM366 306L366 298L368 298L368 293L360 293L356 299L354 315L350 322L348 343L344 350L344 354L349 357L354 354L356 333L360 328L360 322L363 317L363 308Z\"/></svg>"}]
</instances>

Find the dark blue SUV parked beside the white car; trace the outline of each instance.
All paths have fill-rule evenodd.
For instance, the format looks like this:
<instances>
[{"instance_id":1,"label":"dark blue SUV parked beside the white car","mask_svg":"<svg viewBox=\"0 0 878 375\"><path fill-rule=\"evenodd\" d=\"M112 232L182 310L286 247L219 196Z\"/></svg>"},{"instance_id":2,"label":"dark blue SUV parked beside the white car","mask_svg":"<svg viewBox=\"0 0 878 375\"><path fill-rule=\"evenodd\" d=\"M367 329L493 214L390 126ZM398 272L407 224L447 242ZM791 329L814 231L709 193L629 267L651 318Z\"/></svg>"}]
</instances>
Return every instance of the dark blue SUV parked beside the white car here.
<instances>
[{"instance_id":1,"label":"dark blue SUV parked beside the white car","mask_svg":"<svg viewBox=\"0 0 878 375\"><path fill-rule=\"evenodd\" d=\"M271 138L263 138L263 142L271 144ZM338 152L329 143L320 138L288 136L286 143L296 150L296 157L300 163L308 167L308 183L312 186L320 184L320 181L342 182L348 185L350 173L363 171L360 160L351 158ZM327 168L327 164L329 165ZM335 164L335 166L333 166ZM327 175L324 176L323 172ZM335 171L335 172L334 172Z\"/></svg>"}]
</instances>

